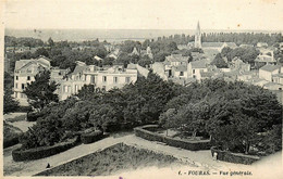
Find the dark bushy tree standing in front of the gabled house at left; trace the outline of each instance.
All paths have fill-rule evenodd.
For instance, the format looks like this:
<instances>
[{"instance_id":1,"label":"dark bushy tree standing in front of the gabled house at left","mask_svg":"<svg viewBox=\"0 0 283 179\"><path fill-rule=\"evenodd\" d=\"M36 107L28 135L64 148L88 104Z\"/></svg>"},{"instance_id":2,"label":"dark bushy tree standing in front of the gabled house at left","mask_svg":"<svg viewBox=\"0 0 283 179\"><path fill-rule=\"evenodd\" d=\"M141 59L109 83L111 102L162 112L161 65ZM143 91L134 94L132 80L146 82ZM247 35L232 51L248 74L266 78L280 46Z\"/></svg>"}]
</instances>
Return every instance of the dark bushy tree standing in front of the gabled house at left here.
<instances>
[{"instance_id":1,"label":"dark bushy tree standing in front of the gabled house at left","mask_svg":"<svg viewBox=\"0 0 283 179\"><path fill-rule=\"evenodd\" d=\"M23 93L27 95L28 103L40 112L50 102L58 102L57 87L54 81L50 81L50 72L42 71L35 76L35 81L27 84Z\"/></svg>"}]
</instances>

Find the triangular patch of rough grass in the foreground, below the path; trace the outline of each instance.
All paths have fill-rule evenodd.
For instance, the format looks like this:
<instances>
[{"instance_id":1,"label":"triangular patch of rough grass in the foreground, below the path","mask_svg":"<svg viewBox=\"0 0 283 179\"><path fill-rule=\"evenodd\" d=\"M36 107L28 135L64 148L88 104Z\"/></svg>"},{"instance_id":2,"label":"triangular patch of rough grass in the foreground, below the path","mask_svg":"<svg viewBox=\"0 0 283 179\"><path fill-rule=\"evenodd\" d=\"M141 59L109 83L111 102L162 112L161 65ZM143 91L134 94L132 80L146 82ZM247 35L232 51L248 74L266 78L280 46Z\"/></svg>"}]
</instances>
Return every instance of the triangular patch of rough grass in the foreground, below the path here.
<instances>
[{"instance_id":1,"label":"triangular patch of rough grass in the foreground, below the path","mask_svg":"<svg viewBox=\"0 0 283 179\"><path fill-rule=\"evenodd\" d=\"M171 155L118 143L36 176L108 176L150 166L160 168L180 164Z\"/></svg>"}]
</instances>

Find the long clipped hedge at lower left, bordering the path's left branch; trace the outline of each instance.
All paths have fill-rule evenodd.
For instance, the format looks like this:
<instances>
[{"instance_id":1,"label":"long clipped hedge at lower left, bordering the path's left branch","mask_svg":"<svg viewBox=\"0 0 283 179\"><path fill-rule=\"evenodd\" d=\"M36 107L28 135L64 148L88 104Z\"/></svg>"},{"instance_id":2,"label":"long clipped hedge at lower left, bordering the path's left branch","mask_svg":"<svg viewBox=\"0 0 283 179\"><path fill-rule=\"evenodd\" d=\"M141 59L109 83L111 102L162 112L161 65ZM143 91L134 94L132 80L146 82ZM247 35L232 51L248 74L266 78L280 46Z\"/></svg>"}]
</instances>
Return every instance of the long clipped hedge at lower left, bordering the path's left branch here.
<instances>
[{"instance_id":1,"label":"long clipped hedge at lower left, bordering the path's left branch","mask_svg":"<svg viewBox=\"0 0 283 179\"><path fill-rule=\"evenodd\" d=\"M77 137L71 139L70 141L58 143L53 146L40 146L24 151L20 148L12 151L12 156L15 162L39 159L64 152L73 148L76 143Z\"/></svg>"}]
</instances>

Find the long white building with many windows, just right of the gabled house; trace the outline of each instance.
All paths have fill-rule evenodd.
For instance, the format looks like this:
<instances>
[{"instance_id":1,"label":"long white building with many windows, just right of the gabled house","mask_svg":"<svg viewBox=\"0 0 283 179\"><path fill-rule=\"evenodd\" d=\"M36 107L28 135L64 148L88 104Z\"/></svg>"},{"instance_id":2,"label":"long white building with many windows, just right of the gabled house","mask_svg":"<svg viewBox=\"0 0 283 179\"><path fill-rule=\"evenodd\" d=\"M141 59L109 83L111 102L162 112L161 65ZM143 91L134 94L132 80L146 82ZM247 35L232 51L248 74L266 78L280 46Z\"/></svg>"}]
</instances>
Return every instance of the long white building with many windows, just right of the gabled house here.
<instances>
[{"instance_id":1,"label":"long white building with many windows, just right of the gabled house","mask_svg":"<svg viewBox=\"0 0 283 179\"><path fill-rule=\"evenodd\" d=\"M146 72L142 66L124 68L122 65L115 65L109 68L101 68L95 65L86 65L77 62L74 72L60 85L59 100L65 100L67 97L77 93L84 85L94 85L95 88L110 90L122 88L125 85L134 84L137 80L138 69L142 75Z\"/></svg>"}]
</instances>

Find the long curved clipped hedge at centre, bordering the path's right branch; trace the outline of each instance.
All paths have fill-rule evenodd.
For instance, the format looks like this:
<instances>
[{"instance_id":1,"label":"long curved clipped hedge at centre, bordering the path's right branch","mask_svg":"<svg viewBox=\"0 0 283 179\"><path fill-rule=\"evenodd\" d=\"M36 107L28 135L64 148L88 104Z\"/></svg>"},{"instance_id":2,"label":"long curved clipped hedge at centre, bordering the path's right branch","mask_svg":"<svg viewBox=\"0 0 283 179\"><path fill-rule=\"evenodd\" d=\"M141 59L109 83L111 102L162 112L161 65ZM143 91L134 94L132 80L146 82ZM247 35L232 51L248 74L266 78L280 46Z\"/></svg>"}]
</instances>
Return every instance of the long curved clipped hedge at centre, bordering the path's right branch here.
<instances>
[{"instance_id":1,"label":"long curved clipped hedge at centre, bordering the path's right branch","mask_svg":"<svg viewBox=\"0 0 283 179\"><path fill-rule=\"evenodd\" d=\"M156 129L159 128L158 125L147 125L143 127L137 127L134 129L134 131L137 137L140 137L143 139L163 142L167 143L168 145L182 148L185 150L199 151L199 150L209 150L211 148L210 140L188 141L182 139L174 139L174 138L164 137L162 135L151 132L155 128ZM149 129L151 131L148 131L146 129Z\"/></svg>"}]
</instances>

